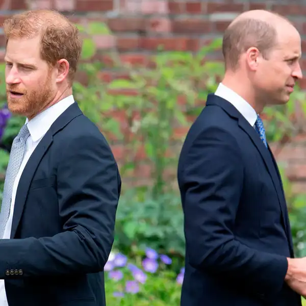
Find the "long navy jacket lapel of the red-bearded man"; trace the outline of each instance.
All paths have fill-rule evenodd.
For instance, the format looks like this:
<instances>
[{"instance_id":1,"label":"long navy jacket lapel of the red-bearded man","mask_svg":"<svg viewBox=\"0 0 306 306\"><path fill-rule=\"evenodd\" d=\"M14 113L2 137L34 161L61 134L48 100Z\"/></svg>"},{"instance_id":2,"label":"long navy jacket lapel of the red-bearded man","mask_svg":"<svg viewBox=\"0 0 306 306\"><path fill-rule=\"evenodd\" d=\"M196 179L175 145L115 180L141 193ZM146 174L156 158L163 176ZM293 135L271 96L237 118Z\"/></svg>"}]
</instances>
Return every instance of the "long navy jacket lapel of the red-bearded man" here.
<instances>
[{"instance_id":1,"label":"long navy jacket lapel of the red-bearded man","mask_svg":"<svg viewBox=\"0 0 306 306\"><path fill-rule=\"evenodd\" d=\"M82 111L80 110L77 103L73 103L70 107L68 107L52 124L50 129L47 131L47 133L44 135L44 137L41 139L41 141L33 151L27 165L25 165L16 192L10 236L11 239L15 238L33 176L39 166L41 159L46 154L48 148L52 145L53 136L56 133L60 132L73 118L80 115L82 115Z\"/></svg>"}]
</instances>

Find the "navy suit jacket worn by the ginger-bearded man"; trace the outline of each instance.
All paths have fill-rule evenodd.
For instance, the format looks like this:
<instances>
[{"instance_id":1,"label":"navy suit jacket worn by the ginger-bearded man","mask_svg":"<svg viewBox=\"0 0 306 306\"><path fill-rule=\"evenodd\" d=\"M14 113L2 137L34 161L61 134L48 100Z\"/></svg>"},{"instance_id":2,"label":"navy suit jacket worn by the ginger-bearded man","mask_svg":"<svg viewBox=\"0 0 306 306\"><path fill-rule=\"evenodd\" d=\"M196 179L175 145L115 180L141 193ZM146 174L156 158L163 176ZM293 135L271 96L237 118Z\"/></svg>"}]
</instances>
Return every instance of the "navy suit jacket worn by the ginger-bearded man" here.
<instances>
[{"instance_id":1,"label":"navy suit jacket worn by the ginger-bearded man","mask_svg":"<svg viewBox=\"0 0 306 306\"><path fill-rule=\"evenodd\" d=\"M104 306L121 181L104 136L72 104L19 181L11 239L0 240L9 306Z\"/></svg>"}]
</instances>

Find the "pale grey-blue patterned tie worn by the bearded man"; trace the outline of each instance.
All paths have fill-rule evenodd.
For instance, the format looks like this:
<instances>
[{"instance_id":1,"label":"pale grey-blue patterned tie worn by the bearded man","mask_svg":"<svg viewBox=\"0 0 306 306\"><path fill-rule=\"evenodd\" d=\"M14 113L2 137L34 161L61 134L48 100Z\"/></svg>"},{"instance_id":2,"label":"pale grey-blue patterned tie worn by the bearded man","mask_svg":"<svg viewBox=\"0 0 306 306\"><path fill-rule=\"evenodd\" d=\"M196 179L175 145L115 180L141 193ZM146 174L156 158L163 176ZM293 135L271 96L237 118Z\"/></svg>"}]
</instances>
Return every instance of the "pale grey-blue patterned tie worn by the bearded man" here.
<instances>
[{"instance_id":1,"label":"pale grey-blue patterned tie worn by the bearded man","mask_svg":"<svg viewBox=\"0 0 306 306\"><path fill-rule=\"evenodd\" d=\"M3 189L3 198L0 213L0 239L3 238L5 227L10 215L13 185L23 159L25 141L29 136L30 133L28 130L28 126L27 124L25 124L21 127L21 130L19 131L18 135L13 140L10 160L5 175Z\"/></svg>"}]
</instances>

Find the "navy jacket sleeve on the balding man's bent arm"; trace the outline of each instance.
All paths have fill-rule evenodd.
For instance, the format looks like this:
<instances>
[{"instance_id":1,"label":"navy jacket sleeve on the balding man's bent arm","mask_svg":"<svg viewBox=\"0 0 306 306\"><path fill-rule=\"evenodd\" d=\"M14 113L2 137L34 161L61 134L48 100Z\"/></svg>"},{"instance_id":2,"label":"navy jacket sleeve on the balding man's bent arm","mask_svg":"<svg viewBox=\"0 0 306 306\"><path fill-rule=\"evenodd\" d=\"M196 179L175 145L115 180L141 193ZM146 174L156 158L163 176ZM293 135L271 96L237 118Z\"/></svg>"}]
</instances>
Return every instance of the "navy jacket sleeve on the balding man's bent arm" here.
<instances>
[{"instance_id":1,"label":"navy jacket sleeve on the balding man's bent arm","mask_svg":"<svg viewBox=\"0 0 306 306\"><path fill-rule=\"evenodd\" d=\"M282 289L288 263L235 239L244 175L240 156L236 139L217 127L198 135L189 148L180 174L189 263L270 295Z\"/></svg>"}]
</instances>

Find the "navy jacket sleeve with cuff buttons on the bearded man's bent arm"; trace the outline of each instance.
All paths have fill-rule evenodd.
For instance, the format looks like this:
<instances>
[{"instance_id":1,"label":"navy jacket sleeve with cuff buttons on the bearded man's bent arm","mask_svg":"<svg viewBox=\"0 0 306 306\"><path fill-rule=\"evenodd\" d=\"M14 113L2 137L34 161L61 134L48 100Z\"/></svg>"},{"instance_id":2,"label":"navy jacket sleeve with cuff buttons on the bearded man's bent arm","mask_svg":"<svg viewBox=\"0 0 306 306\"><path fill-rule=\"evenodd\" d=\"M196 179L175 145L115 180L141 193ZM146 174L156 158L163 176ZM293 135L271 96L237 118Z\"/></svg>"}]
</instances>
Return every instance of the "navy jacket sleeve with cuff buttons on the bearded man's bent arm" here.
<instances>
[{"instance_id":1,"label":"navy jacket sleeve with cuff buttons on the bearded man's bent arm","mask_svg":"<svg viewBox=\"0 0 306 306\"><path fill-rule=\"evenodd\" d=\"M61 233L0 240L0 277L64 275L104 269L114 241L121 181L106 140L84 136L63 147L57 173Z\"/></svg>"}]
</instances>

